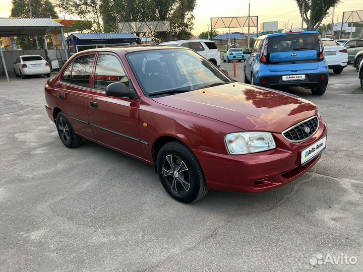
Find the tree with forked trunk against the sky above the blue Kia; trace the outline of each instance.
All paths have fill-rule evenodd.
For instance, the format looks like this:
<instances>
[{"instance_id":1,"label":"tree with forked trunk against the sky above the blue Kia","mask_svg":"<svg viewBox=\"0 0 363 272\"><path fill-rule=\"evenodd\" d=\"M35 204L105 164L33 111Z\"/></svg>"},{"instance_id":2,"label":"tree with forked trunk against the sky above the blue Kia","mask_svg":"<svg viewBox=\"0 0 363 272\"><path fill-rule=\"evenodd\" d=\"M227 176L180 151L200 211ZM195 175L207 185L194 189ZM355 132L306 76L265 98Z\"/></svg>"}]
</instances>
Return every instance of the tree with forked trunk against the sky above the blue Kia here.
<instances>
[{"instance_id":1,"label":"tree with forked trunk against the sky above the blue Kia","mask_svg":"<svg viewBox=\"0 0 363 272\"><path fill-rule=\"evenodd\" d=\"M308 30L316 30L323 19L329 15L329 9L335 7L341 0L295 0L302 20L307 24ZM302 10L302 4L305 8Z\"/></svg>"}]
</instances>

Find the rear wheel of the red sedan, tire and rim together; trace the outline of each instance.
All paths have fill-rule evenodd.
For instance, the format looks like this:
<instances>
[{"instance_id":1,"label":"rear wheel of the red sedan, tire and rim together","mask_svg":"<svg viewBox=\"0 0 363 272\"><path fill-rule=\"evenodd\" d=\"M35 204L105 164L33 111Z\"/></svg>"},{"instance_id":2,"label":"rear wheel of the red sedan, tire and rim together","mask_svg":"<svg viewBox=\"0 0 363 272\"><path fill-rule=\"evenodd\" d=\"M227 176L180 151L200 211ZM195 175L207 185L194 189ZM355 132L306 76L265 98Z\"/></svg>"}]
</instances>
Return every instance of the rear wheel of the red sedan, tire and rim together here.
<instances>
[{"instance_id":1,"label":"rear wheel of the red sedan, tire and rim together","mask_svg":"<svg viewBox=\"0 0 363 272\"><path fill-rule=\"evenodd\" d=\"M66 147L76 148L82 144L82 138L74 132L66 114L64 114L62 111L58 113L55 125L59 138Z\"/></svg>"}]
</instances>

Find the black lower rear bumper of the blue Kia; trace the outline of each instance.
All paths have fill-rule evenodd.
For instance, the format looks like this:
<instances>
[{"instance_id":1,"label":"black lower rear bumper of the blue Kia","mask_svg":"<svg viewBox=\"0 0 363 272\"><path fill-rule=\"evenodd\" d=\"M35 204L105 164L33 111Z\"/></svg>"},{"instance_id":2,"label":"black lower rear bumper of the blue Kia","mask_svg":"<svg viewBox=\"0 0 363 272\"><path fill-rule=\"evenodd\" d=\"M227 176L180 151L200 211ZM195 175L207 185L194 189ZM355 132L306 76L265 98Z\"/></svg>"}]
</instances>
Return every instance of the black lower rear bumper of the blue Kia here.
<instances>
[{"instance_id":1,"label":"black lower rear bumper of the blue Kia","mask_svg":"<svg viewBox=\"0 0 363 272\"><path fill-rule=\"evenodd\" d=\"M304 71L301 71L301 74L304 74ZM288 74L287 74L288 75ZM295 80L295 81L282 81L283 75L276 75L276 76L261 76L260 81L262 78L266 79L266 83L263 84L261 82L254 82L256 86L262 87L269 87L274 89L274 87L283 87L283 86L298 86L304 88L313 88L313 87L323 87L328 84L328 74L325 73L315 73L315 74L304 74L305 80ZM321 80L320 77L325 76L325 80Z\"/></svg>"}]
</instances>

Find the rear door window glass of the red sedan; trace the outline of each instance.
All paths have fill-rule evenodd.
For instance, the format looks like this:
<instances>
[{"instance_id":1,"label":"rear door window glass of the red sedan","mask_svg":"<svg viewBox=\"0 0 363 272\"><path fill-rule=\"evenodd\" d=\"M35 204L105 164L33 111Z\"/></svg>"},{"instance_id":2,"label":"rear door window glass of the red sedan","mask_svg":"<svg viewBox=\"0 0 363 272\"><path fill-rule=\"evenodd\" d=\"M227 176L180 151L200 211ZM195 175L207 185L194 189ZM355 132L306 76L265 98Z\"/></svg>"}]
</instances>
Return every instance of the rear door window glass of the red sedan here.
<instances>
[{"instance_id":1,"label":"rear door window glass of the red sedan","mask_svg":"<svg viewBox=\"0 0 363 272\"><path fill-rule=\"evenodd\" d=\"M71 84L89 88L94 55L83 55L73 61Z\"/></svg>"}]
</instances>

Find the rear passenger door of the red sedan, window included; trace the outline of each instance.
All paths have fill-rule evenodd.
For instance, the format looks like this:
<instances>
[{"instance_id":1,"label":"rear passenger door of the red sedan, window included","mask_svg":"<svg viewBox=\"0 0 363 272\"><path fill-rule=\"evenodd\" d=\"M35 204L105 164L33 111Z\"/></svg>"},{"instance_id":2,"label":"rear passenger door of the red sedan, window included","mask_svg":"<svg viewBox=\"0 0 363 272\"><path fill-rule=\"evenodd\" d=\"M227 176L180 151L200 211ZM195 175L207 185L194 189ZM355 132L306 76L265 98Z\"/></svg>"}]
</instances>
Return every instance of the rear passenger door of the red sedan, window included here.
<instances>
[{"instance_id":1,"label":"rear passenger door of the red sedan, window included","mask_svg":"<svg viewBox=\"0 0 363 272\"><path fill-rule=\"evenodd\" d=\"M74 59L59 81L57 99L73 129L85 137L94 139L87 111L90 76L95 54L84 54Z\"/></svg>"}]
</instances>

